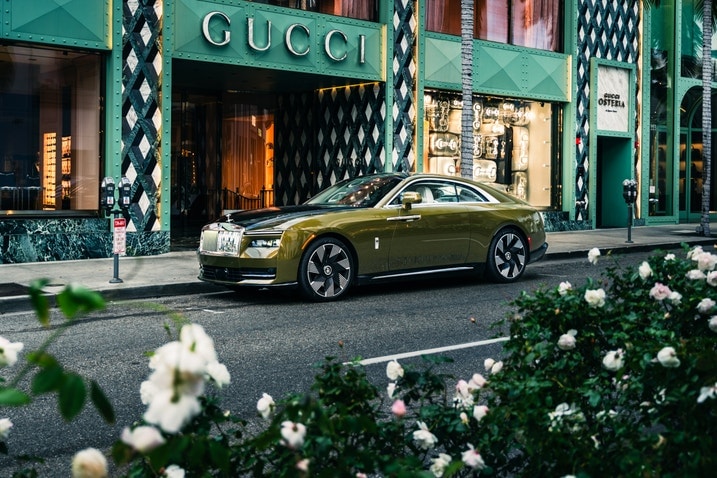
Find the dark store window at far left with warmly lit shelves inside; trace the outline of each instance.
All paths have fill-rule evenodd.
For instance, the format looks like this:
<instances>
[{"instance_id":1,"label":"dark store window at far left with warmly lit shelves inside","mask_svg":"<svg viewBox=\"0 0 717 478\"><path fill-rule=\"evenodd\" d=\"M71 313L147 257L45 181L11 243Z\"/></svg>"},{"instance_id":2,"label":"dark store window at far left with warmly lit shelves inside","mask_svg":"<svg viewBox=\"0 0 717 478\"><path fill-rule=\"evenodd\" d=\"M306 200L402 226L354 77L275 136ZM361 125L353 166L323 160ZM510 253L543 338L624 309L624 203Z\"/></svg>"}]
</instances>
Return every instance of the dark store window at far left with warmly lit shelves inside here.
<instances>
[{"instance_id":1,"label":"dark store window at far left with warmly lit shelves inside","mask_svg":"<svg viewBox=\"0 0 717 478\"><path fill-rule=\"evenodd\" d=\"M0 46L0 215L96 211L99 54Z\"/></svg>"}]
</instances>

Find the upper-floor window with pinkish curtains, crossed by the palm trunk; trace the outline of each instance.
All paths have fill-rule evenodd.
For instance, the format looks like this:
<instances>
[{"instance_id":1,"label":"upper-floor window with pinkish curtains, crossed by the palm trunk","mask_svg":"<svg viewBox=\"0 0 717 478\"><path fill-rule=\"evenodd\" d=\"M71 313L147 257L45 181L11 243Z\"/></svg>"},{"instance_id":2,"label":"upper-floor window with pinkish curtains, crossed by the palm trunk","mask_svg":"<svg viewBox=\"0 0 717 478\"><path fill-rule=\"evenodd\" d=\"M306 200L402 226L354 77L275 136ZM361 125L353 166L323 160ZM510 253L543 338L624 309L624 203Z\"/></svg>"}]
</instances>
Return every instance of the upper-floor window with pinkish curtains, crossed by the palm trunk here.
<instances>
[{"instance_id":1,"label":"upper-floor window with pinkish curtains, crossed by the palm trunk","mask_svg":"<svg viewBox=\"0 0 717 478\"><path fill-rule=\"evenodd\" d=\"M561 8L557 0L474 0L473 36L558 51ZM461 0L427 0L426 29L460 35Z\"/></svg>"}]
</instances>

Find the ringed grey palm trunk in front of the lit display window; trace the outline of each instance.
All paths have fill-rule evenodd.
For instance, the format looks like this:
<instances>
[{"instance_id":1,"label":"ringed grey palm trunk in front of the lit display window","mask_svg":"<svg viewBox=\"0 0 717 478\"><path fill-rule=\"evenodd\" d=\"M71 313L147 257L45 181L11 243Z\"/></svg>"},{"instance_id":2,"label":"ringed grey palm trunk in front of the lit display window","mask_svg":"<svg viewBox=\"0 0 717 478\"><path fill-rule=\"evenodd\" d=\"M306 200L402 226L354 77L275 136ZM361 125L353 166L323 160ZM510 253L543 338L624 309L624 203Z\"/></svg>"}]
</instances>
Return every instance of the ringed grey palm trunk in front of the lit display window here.
<instances>
[{"instance_id":1,"label":"ringed grey palm trunk in front of the lit display window","mask_svg":"<svg viewBox=\"0 0 717 478\"><path fill-rule=\"evenodd\" d=\"M473 0L461 0L461 177L473 177Z\"/></svg>"}]
</instances>

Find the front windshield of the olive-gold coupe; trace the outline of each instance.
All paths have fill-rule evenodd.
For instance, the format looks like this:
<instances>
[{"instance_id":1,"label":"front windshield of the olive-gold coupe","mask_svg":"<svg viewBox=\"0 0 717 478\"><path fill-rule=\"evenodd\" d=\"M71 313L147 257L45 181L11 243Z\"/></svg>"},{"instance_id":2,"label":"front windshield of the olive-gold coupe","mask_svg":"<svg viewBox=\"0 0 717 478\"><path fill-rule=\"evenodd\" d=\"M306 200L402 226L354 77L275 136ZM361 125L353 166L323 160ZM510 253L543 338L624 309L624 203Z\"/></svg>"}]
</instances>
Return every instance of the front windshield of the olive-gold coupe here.
<instances>
[{"instance_id":1,"label":"front windshield of the olive-gold coupe","mask_svg":"<svg viewBox=\"0 0 717 478\"><path fill-rule=\"evenodd\" d=\"M321 191L306 204L341 204L373 207L404 178L401 176L359 176Z\"/></svg>"}]
</instances>

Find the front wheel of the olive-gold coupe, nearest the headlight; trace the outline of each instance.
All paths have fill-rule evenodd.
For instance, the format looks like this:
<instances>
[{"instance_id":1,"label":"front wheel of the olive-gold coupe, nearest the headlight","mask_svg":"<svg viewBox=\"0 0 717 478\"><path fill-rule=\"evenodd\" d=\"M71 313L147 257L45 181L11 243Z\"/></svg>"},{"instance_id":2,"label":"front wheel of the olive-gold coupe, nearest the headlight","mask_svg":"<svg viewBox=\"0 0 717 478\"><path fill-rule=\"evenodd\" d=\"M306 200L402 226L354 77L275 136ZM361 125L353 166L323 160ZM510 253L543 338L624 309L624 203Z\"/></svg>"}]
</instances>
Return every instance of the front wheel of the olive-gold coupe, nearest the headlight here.
<instances>
[{"instance_id":1,"label":"front wheel of the olive-gold coupe, nearest the headlight","mask_svg":"<svg viewBox=\"0 0 717 478\"><path fill-rule=\"evenodd\" d=\"M354 282L354 259L339 239L326 237L309 244L299 263L299 288L309 300L341 297Z\"/></svg>"}]
</instances>

